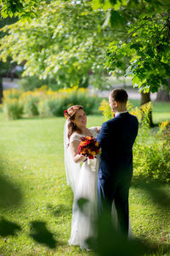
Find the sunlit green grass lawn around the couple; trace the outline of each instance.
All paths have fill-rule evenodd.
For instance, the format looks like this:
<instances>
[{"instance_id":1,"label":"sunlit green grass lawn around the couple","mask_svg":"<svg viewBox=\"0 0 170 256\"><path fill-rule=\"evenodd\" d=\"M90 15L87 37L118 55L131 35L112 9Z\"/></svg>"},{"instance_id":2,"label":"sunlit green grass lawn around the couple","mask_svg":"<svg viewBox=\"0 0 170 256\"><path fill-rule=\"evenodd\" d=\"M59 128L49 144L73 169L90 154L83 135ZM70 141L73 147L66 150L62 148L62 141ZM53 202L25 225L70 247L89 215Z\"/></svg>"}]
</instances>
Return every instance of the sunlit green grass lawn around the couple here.
<instances>
[{"instance_id":1,"label":"sunlit green grass lawn around the couple","mask_svg":"<svg viewBox=\"0 0 170 256\"><path fill-rule=\"evenodd\" d=\"M88 126L103 120L101 115L88 116ZM64 118L8 121L0 113L0 185L4 180L8 184L8 189L0 188L0 206L8 195L12 202L21 195L18 205L0 209L1 256L94 255L68 245L73 195L65 179L64 123ZM168 185L159 184L159 189L170 193ZM132 184L129 201L133 233L149 241L147 255L170 255L168 206L155 202L138 182Z\"/></svg>"}]
</instances>

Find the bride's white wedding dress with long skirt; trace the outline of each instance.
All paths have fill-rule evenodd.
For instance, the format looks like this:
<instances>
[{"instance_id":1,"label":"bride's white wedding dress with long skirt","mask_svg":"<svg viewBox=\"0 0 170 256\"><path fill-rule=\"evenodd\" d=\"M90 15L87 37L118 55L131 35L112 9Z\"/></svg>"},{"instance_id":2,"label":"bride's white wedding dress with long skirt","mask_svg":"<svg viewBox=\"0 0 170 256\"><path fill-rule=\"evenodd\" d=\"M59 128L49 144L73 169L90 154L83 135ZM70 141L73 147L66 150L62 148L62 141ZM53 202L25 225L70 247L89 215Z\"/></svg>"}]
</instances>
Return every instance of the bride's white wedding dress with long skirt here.
<instances>
[{"instance_id":1,"label":"bride's white wedding dress with long skirt","mask_svg":"<svg viewBox=\"0 0 170 256\"><path fill-rule=\"evenodd\" d=\"M96 127L88 128L93 137L97 137ZM65 172L67 184L71 185L74 193L71 219L71 238L70 245L78 245L81 248L88 248L86 240L88 237L95 236L94 221L97 218L97 179L99 170L99 156L94 160L86 160L83 163L76 164L71 156L71 150L66 147L67 144L77 140L81 142L82 134L73 133L70 142L66 136L67 122L65 123L64 144L65 144ZM82 210L77 205L80 198L88 200ZM116 208L112 206L113 223L117 224ZM129 226L129 237L132 237L132 230Z\"/></svg>"}]
</instances>

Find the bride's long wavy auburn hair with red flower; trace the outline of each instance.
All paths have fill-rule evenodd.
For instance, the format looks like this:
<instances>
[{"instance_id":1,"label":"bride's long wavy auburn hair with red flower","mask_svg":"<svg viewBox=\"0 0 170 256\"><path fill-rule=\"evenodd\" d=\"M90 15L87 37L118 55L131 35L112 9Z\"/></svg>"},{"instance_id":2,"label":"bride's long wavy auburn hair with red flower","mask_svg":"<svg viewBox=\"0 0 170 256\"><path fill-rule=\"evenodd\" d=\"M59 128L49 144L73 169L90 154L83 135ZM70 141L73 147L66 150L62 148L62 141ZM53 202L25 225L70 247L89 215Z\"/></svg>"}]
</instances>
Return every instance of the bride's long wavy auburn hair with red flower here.
<instances>
[{"instance_id":1,"label":"bride's long wavy auburn hair with red flower","mask_svg":"<svg viewBox=\"0 0 170 256\"><path fill-rule=\"evenodd\" d=\"M73 120L75 119L75 115L79 109L82 109L81 105L74 105L67 109L67 120L68 120L68 138L70 139L71 134L75 131L81 133L82 131L77 127Z\"/></svg>"}]
</instances>

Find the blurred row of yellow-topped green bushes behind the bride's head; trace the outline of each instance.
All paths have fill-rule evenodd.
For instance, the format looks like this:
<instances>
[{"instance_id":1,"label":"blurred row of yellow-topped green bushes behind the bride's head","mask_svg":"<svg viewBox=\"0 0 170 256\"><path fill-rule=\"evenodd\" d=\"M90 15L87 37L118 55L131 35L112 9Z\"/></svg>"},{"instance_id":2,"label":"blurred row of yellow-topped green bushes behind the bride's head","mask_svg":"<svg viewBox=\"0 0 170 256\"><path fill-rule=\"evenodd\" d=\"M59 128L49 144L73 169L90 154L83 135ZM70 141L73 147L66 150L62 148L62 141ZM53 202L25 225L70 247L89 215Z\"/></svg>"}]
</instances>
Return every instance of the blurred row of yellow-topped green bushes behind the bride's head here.
<instances>
[{"instance_id":1,"label":"blurred row of yellow-topped green bushes behind the bride's head","mask_svg":"<svg viewBox=\"0 0 170 256\"><path fill-rule=\"evenodd\" d=\"M85 112L91 114L99 104L98 97L89 96L87 89L77 88L77 86L58 91L47 90L46 85L25 92L9 90L4 97L4 102L12 97L23 102L24 113L28 117L38 114L41 116L63 116L65 109L71 105L82 105Z\"/></svg>"}]
</instances>

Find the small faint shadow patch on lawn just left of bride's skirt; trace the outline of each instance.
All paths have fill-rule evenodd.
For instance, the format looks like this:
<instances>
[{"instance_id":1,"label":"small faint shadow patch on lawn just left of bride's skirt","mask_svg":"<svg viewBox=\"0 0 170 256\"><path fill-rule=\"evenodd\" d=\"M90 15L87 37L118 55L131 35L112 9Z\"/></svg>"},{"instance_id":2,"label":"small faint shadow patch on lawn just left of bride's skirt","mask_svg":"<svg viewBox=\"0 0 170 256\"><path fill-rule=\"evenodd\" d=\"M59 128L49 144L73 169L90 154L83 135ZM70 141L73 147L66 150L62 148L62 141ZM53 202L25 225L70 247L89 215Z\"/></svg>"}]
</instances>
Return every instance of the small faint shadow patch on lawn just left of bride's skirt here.
<instances>
[{"instance_id":1,"label":"small faint shadow patch on lawn just left of bride's skirt","mask_svg":"<svg viewBox=\"0 0 170 256\"><path fill-rule=\"evenodd\" d=\"M63 204L58 206L53 206L51 204L48 204L47 209L52 215L54 215L54 217L59 217L62 215L70 216L72 211L72 207L68 207L67 205L63 205Z\"/></svg>"}]
</instances>

